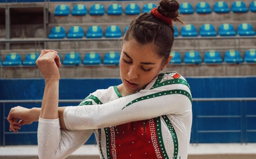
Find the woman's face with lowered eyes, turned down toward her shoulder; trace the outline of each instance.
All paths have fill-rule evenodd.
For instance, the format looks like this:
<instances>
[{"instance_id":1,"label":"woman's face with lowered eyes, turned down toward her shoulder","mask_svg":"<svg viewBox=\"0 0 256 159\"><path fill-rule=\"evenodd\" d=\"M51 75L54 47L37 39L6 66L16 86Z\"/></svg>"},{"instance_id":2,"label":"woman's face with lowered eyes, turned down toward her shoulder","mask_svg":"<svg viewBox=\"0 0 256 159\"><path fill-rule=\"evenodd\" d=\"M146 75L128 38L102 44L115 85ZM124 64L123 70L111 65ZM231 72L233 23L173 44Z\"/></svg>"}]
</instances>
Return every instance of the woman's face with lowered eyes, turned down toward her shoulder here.
<instances>
[{"instance_id":1,"label":"woman's face with lowered eyes, turned down toward her shoulder","mask_svg":"<svg viewBox=\"0 0 256 159\"><path fill-rule=\"evenodd\" d=\"M124 41L120 57L120 74L126 95L141 90L162 69L153 44L139 45L136 40Z\"/></svg>"}]
</instances>

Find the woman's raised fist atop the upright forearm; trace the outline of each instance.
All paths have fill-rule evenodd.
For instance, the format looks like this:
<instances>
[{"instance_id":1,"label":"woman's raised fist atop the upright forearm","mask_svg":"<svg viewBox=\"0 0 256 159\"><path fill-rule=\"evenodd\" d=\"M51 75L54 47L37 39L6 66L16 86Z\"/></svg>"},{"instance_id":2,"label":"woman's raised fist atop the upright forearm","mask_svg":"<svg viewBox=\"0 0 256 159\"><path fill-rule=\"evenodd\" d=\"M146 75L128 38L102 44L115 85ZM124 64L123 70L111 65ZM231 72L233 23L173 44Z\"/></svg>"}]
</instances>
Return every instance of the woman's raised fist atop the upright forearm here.
<instances>
[{"instance_id":1,"label":"woman's raised fist atop the upright forearm","mask_svg":"<svg viewBox=\"0 0 256 159\"><path fill-rule=\"evenodd\" d=\"M59 80L60 73L59 69L61 67L60 57L58 52L54 50L42 50L38 59L36 60L36 65L39 70L43 73L46 80Z\"/></svg>"}]
</instances>

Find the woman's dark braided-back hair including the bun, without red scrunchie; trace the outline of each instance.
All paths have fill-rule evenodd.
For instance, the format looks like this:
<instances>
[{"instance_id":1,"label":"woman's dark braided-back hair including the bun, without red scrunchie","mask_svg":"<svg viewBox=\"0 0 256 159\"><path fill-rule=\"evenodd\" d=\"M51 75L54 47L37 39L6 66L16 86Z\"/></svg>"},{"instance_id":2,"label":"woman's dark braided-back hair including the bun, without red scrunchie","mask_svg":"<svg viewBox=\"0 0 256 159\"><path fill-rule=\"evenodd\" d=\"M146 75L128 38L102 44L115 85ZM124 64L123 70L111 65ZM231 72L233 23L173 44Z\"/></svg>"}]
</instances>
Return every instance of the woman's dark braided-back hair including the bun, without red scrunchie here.
<instances>
[{"instance_id":1,"label":"woman's dark braided-back hair including the bun, without red scrunchie","mask_svg":"<svg viewBox=\"0 0 256 159\"><path fill-rule=\"evenodd\" d=\"M171 18L184 25L178 19L179 3L176 0L161 0L158 12L165 17ZM124 36L124 41L135 39L138 44L144 45L152 43L159 57L166 61L170 55L174 40L174 27L151 13L143 13L136 19L132 20L129 29Z\"/></svg>"}]
</instances>

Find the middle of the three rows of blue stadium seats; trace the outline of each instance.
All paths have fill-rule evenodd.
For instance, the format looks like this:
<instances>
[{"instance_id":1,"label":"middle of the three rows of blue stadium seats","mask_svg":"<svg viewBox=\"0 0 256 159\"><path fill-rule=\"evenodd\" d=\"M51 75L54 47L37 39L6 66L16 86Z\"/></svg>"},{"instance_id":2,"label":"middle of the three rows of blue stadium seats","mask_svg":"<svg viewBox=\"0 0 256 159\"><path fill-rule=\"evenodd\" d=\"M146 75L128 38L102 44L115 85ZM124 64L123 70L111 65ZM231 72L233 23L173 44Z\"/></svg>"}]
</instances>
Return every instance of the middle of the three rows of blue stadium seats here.
<instances>
[{"instance_id":1,"label":"middle of the three rows of blue stadium seats","mask_svg":"<svg viewBox=\"0 0 256 159\"><path fill-rule=\"evenodd\" d=\"M124 35L129 28L129 25L124 29ZM177 27L174 25L174 37L178 37L181 35L182 37L196 37L200 36L217 36L217 32L213 24L202 24L200 26L199 32L195 25L186 24L186 26L182 26L180 32ZM237 32L236 32L237 30ZM218 28L218 35L220 36L255 36L254 28L251 24L241 23L238 25L235 30L232 24L221 24ZM84 29L81 26L72 26L70 27L68 34L66 35L66 31L61 26L52 27L48 38L83 38L85 36ZM120 38L123 36L122 30L117 25L110 25L106 28L105 38ZM92 25L88 28L86 33L86 38L102 38L103 30L98 25Z\"/></svg>"}]
</instances>

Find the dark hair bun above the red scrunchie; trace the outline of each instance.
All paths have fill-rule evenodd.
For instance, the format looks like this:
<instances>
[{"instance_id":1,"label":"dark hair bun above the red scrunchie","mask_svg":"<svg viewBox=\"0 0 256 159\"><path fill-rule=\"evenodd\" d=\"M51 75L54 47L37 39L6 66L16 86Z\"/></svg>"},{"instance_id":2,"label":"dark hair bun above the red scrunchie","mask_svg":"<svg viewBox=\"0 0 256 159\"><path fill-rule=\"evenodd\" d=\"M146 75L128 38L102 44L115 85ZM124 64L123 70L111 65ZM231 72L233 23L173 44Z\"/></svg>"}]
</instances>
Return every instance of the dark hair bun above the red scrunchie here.
<instances>
[{"instance_id":1,"label":"dark hair bun above the red scrunchie","mask_svg":"<svg viewBox=\"0 0 256 159\"><path fill-rule=\"evenodd\" d=\"M179 15L180 4L176 0L161 0L160 7L158 9L159 13L165 17L175 20Z\"/></svg>"}]
</instances>

